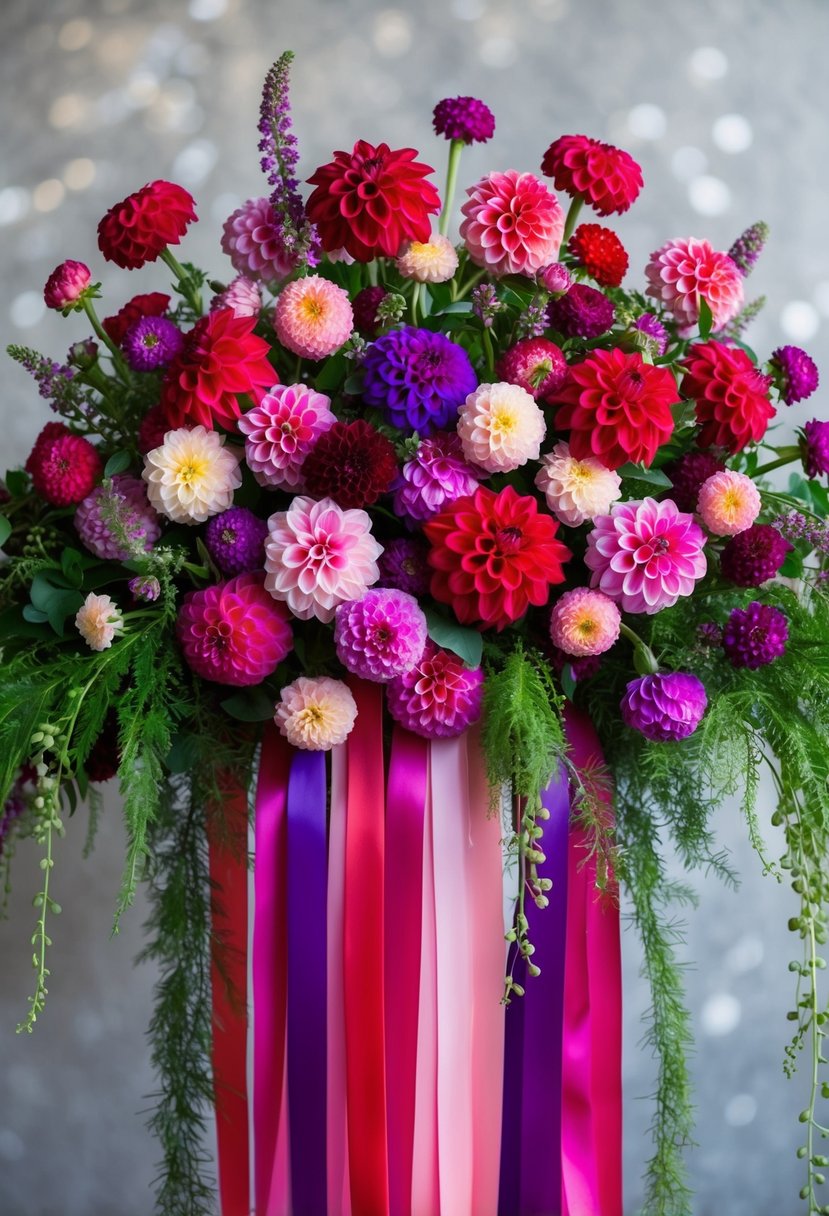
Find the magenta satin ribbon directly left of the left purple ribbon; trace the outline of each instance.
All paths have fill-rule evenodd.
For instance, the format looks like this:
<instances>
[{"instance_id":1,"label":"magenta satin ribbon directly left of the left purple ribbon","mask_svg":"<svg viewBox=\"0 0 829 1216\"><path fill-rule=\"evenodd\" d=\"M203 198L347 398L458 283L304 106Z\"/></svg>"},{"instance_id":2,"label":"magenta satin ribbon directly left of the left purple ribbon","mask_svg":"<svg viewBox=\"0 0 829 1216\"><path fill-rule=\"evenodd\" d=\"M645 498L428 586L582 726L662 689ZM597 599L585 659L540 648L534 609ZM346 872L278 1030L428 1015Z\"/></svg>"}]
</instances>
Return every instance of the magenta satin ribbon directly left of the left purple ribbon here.
<instances>
[{"instance_id":1,"label":"magenta satin ribbon directly left of the left purple ribbon","mask_svg":"<svg viewBox=\"0 0 829 1216\"><path fill-rule=\"evenodd\" d=\"M258 1216L283 1216L287 1171L275 1171L284 1088L287 959L286 805L291 749L265 727L254 818L253 1142Z\"/></svg>"}]
</instances>

